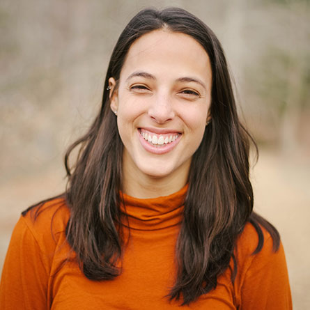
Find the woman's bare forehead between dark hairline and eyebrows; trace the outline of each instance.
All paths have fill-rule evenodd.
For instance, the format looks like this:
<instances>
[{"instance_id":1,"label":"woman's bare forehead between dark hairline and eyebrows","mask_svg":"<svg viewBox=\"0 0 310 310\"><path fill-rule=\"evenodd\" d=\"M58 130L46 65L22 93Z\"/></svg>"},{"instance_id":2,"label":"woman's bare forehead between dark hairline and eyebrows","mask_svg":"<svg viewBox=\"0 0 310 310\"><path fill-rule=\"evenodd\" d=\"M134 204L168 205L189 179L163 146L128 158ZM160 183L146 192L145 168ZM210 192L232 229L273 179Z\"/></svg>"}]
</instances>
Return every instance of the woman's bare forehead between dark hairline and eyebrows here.
<instances>
[{"instance_id":1,"label":"woman's bare forehead between dark hairline and eyebrows","mask_svg":"<svg viewBox=\"0 0 310 310\"><path fill-rule=\"evenodd\" d=\"M161 29L138 38L130 47L121 71L127 79L132 72L178 75L198 75L210 79L211 68L207 52L191 36Z\"/></svg>"}]
</instances>

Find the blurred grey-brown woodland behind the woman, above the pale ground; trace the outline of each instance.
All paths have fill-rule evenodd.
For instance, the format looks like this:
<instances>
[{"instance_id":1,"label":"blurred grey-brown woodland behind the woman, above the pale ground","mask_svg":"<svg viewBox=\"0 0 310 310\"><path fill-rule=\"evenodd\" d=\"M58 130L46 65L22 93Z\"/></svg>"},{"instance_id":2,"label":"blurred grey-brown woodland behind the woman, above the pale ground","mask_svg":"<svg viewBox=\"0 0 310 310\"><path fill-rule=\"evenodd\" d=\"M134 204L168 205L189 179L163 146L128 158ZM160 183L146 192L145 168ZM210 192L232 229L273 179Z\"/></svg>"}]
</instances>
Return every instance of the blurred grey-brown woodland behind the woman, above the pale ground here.
<instances>
[{"instance_id":1,"label":"blurred grey-brown woodland behind the woman, above the pale ground","mask_svg":"<svg viewBox=\"0 0 310 310\"><path fill-rule=\"evenodd\" d=\"M309 151L309 1L2 0L4 178L61 160L98 110L119 34L146 6L180 6L205 21L224 46L256 139Z\"/></svg>"}]
</instances>

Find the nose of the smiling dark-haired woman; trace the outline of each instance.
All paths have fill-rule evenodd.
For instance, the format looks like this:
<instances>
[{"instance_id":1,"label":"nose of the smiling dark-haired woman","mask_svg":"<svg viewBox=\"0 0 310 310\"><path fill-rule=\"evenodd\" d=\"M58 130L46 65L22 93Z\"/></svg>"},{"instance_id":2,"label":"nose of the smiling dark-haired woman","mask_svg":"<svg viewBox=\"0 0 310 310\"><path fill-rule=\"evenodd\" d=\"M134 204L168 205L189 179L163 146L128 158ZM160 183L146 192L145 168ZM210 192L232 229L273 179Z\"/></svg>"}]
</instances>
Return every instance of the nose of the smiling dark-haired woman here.
<instances>
[{"instance_id":1,"label":"nose of the smiling dark-haired woman","mask_svg":"<svg viewBox=\"0 0 310 310\"><path fill-rule=\"evenodd\" d=\"M148 109L148 115L160 124L170 121L175 116L170 96L158 94Z\"/></svg>"}]
</instances>

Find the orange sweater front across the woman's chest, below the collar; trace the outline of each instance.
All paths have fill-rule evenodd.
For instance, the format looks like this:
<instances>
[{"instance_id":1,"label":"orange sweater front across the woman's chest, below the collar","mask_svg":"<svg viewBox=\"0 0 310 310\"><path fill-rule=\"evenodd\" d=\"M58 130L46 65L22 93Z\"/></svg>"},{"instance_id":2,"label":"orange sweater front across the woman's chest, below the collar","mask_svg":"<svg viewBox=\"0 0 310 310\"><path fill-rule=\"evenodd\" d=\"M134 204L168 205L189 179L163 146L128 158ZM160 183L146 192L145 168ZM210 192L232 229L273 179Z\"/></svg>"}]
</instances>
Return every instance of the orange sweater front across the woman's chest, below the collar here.
<instances>
[{"instance_id":1,"label":"orange sweater front across the woman's chest, below the collar","mask_svg":"<svg viewBox=\"0 0 310 310\"><path fill-rule=\"evenodd\" d=\"M66 263L51 282L51 309L180 309L180 302L166 297L176 281L176 235L148 237L132 236L121 275L113 280L91 281L77 264ZM199 297L190 309L235 309L228 277L220 277L217 288Z\"/></svg>"}]
</instances>

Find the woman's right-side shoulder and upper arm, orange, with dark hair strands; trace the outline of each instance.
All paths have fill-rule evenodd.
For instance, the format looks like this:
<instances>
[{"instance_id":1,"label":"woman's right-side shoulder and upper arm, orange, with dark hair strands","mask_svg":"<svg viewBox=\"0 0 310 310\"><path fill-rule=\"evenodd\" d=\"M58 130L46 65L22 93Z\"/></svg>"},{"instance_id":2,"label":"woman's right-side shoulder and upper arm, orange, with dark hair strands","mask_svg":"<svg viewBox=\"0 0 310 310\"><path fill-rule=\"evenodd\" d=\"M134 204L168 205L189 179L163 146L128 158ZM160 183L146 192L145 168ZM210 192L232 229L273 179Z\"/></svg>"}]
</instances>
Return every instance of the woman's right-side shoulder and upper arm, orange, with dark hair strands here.
<instances>
[{"instance_id":1,"label":"woman's right-side shoulder and upper arm, orange, with dark hair strands","mask_svg":"<svg viewBox=\"0 0 310 310\"><path fill-rule=\"evenodd\" d=\"M247 223L235 247L235 295L245 309L292 309L284 248L277 230Z\"/></svg>"}]
</instances>

